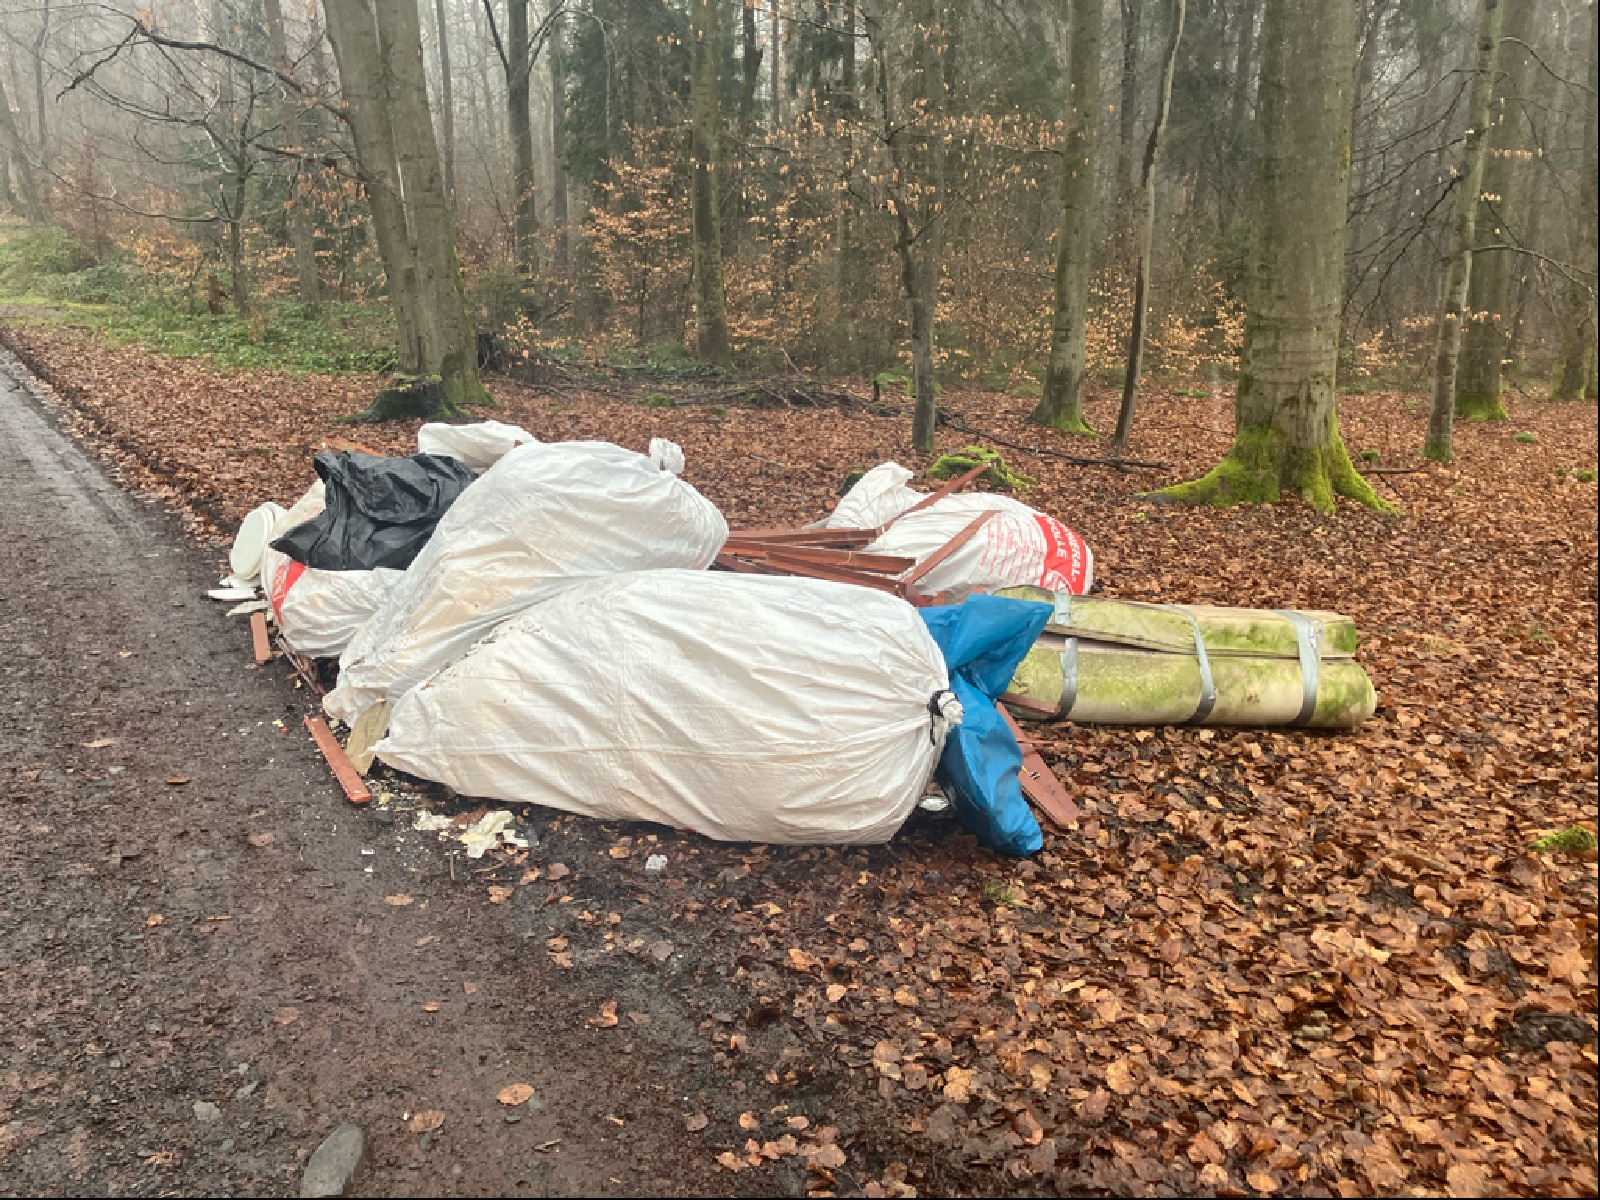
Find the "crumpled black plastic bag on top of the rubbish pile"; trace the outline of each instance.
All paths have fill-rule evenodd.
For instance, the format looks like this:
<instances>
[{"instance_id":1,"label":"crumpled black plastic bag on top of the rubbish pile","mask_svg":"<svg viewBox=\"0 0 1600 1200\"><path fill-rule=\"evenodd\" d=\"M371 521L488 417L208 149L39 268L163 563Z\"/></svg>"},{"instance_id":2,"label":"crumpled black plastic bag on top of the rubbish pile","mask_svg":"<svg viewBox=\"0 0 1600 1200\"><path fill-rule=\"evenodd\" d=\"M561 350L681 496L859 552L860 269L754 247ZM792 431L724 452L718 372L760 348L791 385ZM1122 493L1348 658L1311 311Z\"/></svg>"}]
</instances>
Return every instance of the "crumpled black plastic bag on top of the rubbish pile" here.
<instances>
[{"instance_id":1,"label":"crumpled black plastic bag on top of the rubbish pile","mask_svg":"<svg viewBox=\"0 0 1600 1200\"><path fill-rule=\"evenodd\" d=\"M477 475L448 454L381 458L322 451L317 474L328 507L296 525L272 549L318 571L403 571L434 526Z\"/></svg>"}]
</instances>

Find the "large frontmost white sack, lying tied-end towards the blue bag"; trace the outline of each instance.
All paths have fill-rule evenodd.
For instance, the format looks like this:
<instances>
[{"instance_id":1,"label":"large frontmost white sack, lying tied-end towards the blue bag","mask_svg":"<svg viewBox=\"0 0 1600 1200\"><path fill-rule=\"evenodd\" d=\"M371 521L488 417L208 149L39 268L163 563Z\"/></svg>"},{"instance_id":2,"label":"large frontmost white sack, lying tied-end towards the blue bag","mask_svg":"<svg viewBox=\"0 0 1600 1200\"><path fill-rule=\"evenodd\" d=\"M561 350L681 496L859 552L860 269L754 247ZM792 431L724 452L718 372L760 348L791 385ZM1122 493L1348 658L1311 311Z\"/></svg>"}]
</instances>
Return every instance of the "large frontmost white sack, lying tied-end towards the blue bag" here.
<instances>
[{"instance_id":1,"label":"large frontmost white sack, lying tied-end towards the blue bag","mask_svg":"<svg viewBox=\"0 0 1600 1200\"><path fill-rule=\"evenodd\" d=\"M570 584L394 709L376 757L472 797L725 842L886 842L960 720L917 610L819 579Z\"/></svg>"}]
</instances>

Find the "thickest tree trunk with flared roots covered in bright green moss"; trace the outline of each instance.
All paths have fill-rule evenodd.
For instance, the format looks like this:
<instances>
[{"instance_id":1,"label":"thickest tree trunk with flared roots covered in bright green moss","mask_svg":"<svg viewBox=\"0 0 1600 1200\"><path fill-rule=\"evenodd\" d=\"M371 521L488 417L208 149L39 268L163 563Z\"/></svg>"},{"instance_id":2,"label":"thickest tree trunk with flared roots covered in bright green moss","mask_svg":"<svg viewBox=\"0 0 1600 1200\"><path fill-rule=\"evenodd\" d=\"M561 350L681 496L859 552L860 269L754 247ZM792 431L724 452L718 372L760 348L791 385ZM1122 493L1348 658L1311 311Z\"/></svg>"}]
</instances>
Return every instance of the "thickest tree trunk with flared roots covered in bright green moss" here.
<instances>
[{"instance_id":1,"label":"thickest tree trunk with flared roots covered in bright green moss","mask_svg":"<svg viewBox=\"0 0 1600 1200\"><path fill-rule=\"evenodd\" d=\"M1152 499L1389 509L1350 464L1334 411L1350 181L1355 0L1266 0L1259 216L1234 445L1203 478Z\"/></svg>"}]
</instances>

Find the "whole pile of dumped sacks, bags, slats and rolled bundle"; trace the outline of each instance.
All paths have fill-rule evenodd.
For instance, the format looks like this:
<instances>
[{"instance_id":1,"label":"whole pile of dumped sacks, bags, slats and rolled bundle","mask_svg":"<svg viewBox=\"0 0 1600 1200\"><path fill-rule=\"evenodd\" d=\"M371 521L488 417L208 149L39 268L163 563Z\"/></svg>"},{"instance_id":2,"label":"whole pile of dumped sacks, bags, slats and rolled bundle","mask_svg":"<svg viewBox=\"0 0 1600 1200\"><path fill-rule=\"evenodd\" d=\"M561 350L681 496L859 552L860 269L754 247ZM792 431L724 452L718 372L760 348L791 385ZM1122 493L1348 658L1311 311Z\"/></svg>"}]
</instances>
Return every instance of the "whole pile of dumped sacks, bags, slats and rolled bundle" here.
<instances>
[{"instance_id":1,"label":"whole pile of dumped sacks, bags, slats and rolled bundle","mask_svg":"<svg viewBox=\"0 0 1600 1200\"><path fill-rule=\"evenodd\" d=\"M1376 704L1336 613L1090 597L1094 555L1018 499L885 462L806 528L728 530L683 453L426 424L317 454L240 526L256 656L344 747L456 792L766 843L874 843L918 805L1029 854L1077 806L1016 718L1354 728ZM256 598L256 589L264 598ZM930 795L930 794L936 795ZM942 798L939 798L942 797Z\"/></svg>"}]
</instances>

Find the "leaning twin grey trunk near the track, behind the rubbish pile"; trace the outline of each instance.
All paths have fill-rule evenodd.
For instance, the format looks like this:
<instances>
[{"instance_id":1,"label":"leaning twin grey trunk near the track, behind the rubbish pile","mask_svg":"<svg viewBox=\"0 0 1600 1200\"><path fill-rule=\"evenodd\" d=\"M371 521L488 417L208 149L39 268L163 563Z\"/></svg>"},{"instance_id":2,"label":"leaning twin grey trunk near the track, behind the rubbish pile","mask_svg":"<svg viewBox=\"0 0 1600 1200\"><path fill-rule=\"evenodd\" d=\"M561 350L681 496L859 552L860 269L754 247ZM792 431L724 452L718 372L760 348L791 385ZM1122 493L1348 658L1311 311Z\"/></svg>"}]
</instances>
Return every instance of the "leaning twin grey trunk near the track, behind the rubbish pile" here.
<instances>
[{"instance_id":1,"label":"leaning twin grey trunk near the track, behind the rubbish pile","mask_svg":"<svg viewBox=\"0 0 1600 1200\"><path fill-rule=\"evenodd\" d=\"M491 403L478 379L454 226L427 110L414 3L325 0L362 182L395 310L398 363L430 414Z\"/></svg>"}]
</instances>

